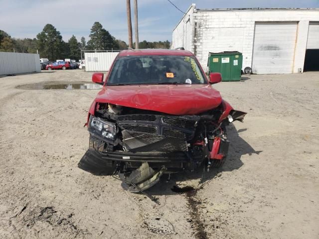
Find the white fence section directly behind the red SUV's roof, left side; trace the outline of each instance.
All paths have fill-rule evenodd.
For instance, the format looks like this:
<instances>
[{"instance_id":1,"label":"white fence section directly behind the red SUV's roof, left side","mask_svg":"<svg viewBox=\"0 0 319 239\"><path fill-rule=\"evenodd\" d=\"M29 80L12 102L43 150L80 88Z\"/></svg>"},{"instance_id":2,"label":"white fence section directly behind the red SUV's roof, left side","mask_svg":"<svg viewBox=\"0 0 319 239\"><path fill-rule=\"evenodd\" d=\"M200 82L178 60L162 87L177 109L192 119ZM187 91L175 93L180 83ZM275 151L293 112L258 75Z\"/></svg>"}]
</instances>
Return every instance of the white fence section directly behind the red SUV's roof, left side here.
<instances>
[{"instance_id":1,"label":"white fence section directly behind the red SUV's roof, left side","mask_svg":"<svg viewBox=\"0 0 319 239\"><path fill-rule=\"evenodd\" d=\"M119 52L85 52L85 71L108 71Z\"/></svg>"}]
</instances>

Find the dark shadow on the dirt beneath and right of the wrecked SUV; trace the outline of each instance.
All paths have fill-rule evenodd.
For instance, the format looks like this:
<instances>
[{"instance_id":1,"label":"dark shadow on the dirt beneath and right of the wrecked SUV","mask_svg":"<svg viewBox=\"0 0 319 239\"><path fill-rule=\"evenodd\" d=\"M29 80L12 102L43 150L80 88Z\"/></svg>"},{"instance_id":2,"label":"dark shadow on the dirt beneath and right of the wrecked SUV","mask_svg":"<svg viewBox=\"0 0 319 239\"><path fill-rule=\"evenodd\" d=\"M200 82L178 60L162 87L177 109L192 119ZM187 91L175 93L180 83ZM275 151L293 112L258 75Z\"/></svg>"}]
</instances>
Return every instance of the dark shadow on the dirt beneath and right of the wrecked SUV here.
<instances>
[{"instance_id":1,"label":"dark shadow on the dirt beneath and right of the wrecked SUV","mask_svg":"<svg viewBox=\"0 0 319 239\"><path fill-rule=\"evenodd\" d=\"M225 160L225 163L222 167L219 168L210 168L210 171L207 172L206 168L204 166L201 166L194 170L193 172L180 172L180 173L172 173L170 174L170 180L168 179L168 174L164 174L160 178L160 182L153 186L152 188L146 190L148 194L151 194L153 196L160 196L160 195L173 195L176 194L175 192L171 191L171 188L174 185L177 185L177 182L181 182L182 186L187 185L187 181L189 180L198 180L201 184L208 182L209 180L213 179L218 173L223 171L233 171L236 169L239 169L243 162L241 161L241 156L245 154L259 154L262 151L256 151L249 143L247 143L243 138L240 137L239 133L246 131L247 128L243 128L237 131L236 127L233 124L230 124L227 127L227 134L228 134L228 140L230 141L229 151L227 159ZM86 165L82 164L80 166L81 162L85 162L85 157L90 157L89 161L90 164L96 160L98 164L101 163L101 159L97 156L97 158L92 158L92 154L88 150L84 156L82 157L79 167L85 171L87 170ZM84 160L83 160L84 159ZM93 165L95 166L95 165ZM103 172L97 172L93 173L95 175L106 175L106 173ZM192 182L193 183L193 182ZM189 185L189 186L195 186L196 185Z\"/></svg>"}]
</instances>

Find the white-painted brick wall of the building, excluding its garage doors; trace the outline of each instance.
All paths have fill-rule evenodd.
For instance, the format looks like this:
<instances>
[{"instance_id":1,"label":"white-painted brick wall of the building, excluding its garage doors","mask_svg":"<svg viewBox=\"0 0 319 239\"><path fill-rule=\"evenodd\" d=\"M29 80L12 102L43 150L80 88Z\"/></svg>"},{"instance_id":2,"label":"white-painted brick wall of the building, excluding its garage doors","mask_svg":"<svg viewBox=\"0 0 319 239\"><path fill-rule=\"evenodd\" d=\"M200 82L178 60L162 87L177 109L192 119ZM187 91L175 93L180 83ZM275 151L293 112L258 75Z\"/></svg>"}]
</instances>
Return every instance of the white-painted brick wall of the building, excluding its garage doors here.
<instances>
[{"instance_id":1,"label":"white-painted brick wall of the building, excluding its garage doors","mask_svg":"<svg viewBox=\"0 0 319 239\"><path fill-rule=\"evenodd\" d=\"M297 21L293 66L297 73L304 68L309 21L319 21L319 9L196 9L192 5L189 11L193 11L190 22L194 30L183 31L181 20L173 30L172 48L186 46L206 69L208 53L220 51L240 51L243 69L252 67L255 22ZM185 38L192 39L190 47L181 40Z\"/></svg>"}]
</instances>

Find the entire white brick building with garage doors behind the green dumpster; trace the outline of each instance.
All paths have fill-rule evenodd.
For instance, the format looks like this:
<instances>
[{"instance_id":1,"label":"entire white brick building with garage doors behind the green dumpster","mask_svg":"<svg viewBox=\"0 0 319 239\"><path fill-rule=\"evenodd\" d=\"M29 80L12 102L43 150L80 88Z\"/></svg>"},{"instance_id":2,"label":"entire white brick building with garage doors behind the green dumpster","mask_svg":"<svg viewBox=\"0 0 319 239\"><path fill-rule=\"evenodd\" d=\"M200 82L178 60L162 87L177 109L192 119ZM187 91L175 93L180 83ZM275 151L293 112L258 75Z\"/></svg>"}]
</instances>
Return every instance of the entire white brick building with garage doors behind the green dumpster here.
<instances>
[{"instance_id":1,"label":"entire white brick building with garage doors behind the green dumpster","mask_svg":"<svg viewBox=\"0 0 319 239\"><path fill-rule=\"evenodd\" d=\"M319 8L197 9L193 3L173 30L171 48L177 47L193 52L203 67L209 52L239 51L242 69L256 74L319 70Z\"/></svg>"}]
</instances>

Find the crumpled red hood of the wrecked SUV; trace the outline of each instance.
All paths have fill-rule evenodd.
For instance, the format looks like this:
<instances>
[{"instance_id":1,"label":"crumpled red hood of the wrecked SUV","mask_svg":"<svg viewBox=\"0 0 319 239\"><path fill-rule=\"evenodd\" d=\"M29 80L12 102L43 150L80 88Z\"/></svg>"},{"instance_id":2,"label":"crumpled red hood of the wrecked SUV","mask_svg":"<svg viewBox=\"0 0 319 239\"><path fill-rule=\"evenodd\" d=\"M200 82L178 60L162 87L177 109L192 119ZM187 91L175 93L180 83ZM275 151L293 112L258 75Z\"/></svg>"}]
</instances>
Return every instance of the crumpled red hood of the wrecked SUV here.
<instances>
[{"instance_id":1,"label":"crumpled red hood of the wrecked SUV","mask_svg":"<svg viewBox=\"0 0 319 239\"><path fill-rule=\"evenodd\" d=\"M106 86L95 101L170 115L196 115L219 106L221 96L206 84Z\"/></svg>"}]
</instances>

